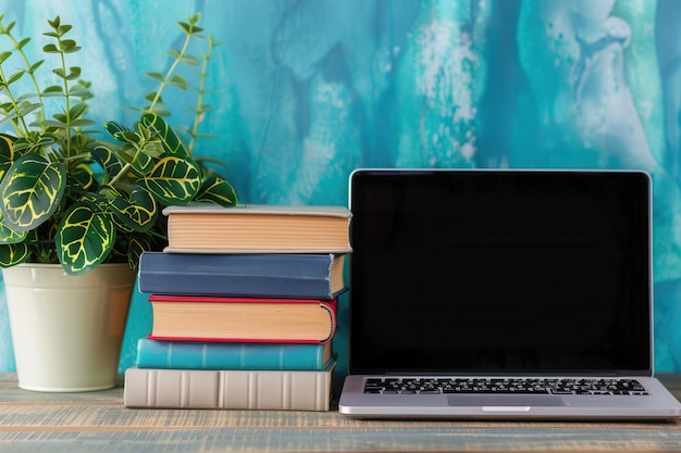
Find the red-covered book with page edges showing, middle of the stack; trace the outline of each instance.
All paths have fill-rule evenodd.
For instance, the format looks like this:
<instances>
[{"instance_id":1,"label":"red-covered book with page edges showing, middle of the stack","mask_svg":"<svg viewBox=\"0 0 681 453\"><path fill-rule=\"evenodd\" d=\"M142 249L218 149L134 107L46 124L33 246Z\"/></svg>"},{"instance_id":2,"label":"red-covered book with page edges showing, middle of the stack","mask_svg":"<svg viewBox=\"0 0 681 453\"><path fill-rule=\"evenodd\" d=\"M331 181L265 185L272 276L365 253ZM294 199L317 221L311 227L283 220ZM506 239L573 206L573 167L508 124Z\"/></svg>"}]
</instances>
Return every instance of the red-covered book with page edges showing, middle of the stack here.
<instances>
[{"instance_id":1,"label":"red-covered book with page edges showing, middle of the stack","mask_svg":"<svg viewBox=\"0 0 681 453\"><path fill-rule=\"evenodd\" d=\"M336 299L149 297L154 340L325 343Z\"/></svg>"}]
</instances>

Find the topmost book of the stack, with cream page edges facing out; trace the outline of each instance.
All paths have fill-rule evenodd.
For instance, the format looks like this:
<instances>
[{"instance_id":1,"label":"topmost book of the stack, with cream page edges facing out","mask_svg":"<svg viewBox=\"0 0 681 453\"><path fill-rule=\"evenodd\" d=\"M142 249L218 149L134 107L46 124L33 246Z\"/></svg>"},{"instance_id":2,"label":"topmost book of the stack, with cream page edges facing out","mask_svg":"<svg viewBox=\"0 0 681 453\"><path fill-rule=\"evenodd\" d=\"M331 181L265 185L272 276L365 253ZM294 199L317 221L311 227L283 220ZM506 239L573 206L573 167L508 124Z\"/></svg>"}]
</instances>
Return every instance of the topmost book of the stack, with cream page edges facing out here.
<instances>
[{"instance_id":1,"label":"topmost book of the stack, with cream page edges facing out","mask_svg":"<svg viewBox=\"0 0 681 453\"><path fill-rule=\"evenodd\" d=\"M168 206L166 252L347 253L350 211L344 206L209 203Z\"/></svg>"}]
</instances>

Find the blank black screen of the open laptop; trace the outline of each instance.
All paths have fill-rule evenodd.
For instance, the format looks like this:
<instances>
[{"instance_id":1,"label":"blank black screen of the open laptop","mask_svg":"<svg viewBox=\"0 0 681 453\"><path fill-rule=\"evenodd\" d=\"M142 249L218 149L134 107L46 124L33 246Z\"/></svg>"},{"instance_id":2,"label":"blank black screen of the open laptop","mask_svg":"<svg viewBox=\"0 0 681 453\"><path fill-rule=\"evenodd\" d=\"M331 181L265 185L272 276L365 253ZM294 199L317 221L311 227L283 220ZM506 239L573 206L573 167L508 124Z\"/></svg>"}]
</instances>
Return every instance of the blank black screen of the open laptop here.
<instances>
[{"instance_id":1,"label":"blank black screen of the open laptop","mask_svg":"<svg viewBox=\"0 0 681 453\"><path fill-rule=\"evenodd\" d=\"M350 373L649 374L649 185L356 171Z\"/></svg>"}]
</instances>

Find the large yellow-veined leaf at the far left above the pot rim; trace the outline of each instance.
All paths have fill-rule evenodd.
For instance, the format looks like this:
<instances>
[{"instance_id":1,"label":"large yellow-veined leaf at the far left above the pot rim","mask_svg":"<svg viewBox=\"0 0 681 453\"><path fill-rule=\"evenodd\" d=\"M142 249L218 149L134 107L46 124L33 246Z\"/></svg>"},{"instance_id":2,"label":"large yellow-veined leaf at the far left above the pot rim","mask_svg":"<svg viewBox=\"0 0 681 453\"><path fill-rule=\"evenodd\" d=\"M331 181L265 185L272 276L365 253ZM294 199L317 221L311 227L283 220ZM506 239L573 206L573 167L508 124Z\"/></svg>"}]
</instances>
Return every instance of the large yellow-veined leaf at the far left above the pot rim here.
<instances>
[{"instance_id":1,"label":"large yellow-veined leaf at the far left above the pot rim","mask_svg":"<svg viewBox=\"0 0 681 453\"><path fill-rule=\"evenodd\" d=\"M16 230L33 229L59 207L66 187L66 169L37 154L21 156L0 184L0 210L7 225Z\"/></svg>"}]
</instances>

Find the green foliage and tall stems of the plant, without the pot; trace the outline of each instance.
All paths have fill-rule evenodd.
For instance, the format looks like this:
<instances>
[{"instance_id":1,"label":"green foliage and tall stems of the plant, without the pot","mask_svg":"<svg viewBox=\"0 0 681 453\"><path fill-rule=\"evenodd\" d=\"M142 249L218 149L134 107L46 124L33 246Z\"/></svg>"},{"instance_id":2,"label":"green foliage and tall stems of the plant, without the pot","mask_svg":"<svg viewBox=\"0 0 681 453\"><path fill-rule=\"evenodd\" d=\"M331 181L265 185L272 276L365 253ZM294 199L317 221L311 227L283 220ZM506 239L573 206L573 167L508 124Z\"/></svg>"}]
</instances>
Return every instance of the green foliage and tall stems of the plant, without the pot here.
<instances>
[{"instance_id":1,"label":"green foliage and tall stems of the plant, without the pot","mask_svg":"<svg viewBox=\"0 0 681 453\"><path fill-rule=\"evenodd\" d=\"M86 116L87 102L94 96L81 78L81 67L69 62L81 50L67 36L71 25L59 16L48 21L45 35L52 41L42 51L55 56L52 74L60 84L40 89L37 72L45 60L32 63L24 50L30 39L16 38L15 23L5 26L3 20L0 15L0 37L11 49L0 52L0 125L11 130L0 135L0 266L59 262L72 275L103 262L127 261L135 268L144 251L166 243L165 219L159 215L164 206L191 201L236 204L232 185L193 156L199 117L207 111L202 95L212 38L202 53L190 148L162 117L170 115L161 96L165 88L189 88L177 68L201 64L188 53L189 43L202 38L200 15L178 23L185 40L169 52L172 62L165 74L149 74L159 85L147 96L149 104L139 109L140 119L129 128L104 124L112 142L95 139L88 129L94 122ZM24 67L8 74L5 63L13 55ZM18 93L20 80L33 91ZM47 98L61 101L61 111L50 117Z\"/></svg>"}]
</instances>

